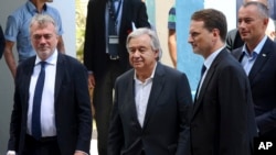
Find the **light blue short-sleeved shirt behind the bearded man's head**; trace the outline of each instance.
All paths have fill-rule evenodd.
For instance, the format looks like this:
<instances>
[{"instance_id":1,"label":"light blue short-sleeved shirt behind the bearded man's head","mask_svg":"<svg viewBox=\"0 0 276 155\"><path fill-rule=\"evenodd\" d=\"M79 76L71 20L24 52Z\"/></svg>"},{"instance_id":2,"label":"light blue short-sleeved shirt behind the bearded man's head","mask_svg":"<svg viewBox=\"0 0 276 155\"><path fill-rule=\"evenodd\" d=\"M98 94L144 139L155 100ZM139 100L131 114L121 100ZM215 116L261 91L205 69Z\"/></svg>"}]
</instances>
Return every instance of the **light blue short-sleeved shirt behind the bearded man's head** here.
<instances>
[{"instance_id":1,"label":"light blue short-sleeved shirt behind the bearded man's head","mask_svg":"<svg viewBox=\"0 0 276 155\"><path fill-rule=\"evenodd\" d=\"M29 32L30 22L32 16L38 13L36 8L31 1L17 9L11 15L8 16L4 37L8 41L17 42L17 49L19 53L19 62L22 62L33 55L35 51L31 45L31 37ZM42 13L51 15L57 25L57 34L63 34L62 19L56 9L44 5Z\"/></svg>"}]
</instances>

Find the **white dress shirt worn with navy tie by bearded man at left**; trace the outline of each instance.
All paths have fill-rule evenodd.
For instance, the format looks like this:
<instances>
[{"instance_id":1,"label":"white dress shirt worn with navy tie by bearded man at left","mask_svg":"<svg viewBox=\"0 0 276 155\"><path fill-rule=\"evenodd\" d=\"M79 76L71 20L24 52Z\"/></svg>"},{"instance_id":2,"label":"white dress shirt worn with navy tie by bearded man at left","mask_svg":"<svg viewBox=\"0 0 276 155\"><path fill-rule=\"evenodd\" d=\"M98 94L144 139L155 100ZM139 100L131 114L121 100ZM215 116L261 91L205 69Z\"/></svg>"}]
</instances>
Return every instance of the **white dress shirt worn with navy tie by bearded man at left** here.
<instances>
[{"instance_id":1,"label":"white dress shirt worn with navy tie by bearded man at left","mask_svg":"<svg viewBox=\"0 0 276 155\"><path fill-rule=\"evenodd\" d=\"M28 129L26 133L32 135L32 109L33 109L33 96L39 78L41 65L41 59L36 56L35 65L33 68L33 74L31 77L30 88L29 88L29 109L28 109ZM56 74L56 62L57 62L57 51L52 54L46 60L45 65L45 81L42 92L41 101L41 132L42 137L44 136L55 136L55 112L54 112L54 87L55 87L55 74Z\"/></svg>"}]
</instances>

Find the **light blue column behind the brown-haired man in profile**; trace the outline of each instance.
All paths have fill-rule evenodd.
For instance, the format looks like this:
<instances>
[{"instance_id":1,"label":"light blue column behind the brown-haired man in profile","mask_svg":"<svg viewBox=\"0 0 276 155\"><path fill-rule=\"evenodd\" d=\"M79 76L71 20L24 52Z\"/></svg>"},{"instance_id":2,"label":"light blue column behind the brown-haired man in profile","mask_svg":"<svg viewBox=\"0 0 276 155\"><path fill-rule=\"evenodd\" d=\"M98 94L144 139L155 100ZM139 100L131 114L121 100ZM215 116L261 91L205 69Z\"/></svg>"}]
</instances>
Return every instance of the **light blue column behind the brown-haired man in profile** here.
<instances>
[{"instance_id":1,"label":"light blue column behind the brown-haired man in profile","mask_svg":"<svg viewBox=\"0 0 276 155\"><path fill-rule=\"evenodd\" d=\"M192 92L197 90L203 58L193 54L188 43L191 14L203 9L203 0L176 0L178 63L177 68L188 76Z\"/></svg>"}]
</instances>

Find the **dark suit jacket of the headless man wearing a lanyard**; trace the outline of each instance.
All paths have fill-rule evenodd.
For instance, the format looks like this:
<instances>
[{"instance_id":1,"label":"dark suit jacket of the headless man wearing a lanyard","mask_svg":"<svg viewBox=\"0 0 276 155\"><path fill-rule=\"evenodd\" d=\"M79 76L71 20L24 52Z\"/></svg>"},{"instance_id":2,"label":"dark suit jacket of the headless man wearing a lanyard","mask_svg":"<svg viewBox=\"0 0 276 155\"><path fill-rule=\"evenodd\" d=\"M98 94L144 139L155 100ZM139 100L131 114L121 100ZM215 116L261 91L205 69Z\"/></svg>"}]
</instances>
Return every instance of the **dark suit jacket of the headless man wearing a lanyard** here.
<instances>
[{"instance_id":1,"label":"dark suit jacket of the headless man wearing a lanyard","mask_svg":"<svg viewBox=\"0 0 276 155\"><path fill-rule=\"evenodd\" d=\"M96 78L106 71L109 57L106 54L106 0L89 0L86 20L84 65ZM150 27L146 5L140 0L124 0L119 27L119 63L124 70L130 68L126 48L127 35L132 31L131 22L137 27Z\"/></svg>"}]
</instances>

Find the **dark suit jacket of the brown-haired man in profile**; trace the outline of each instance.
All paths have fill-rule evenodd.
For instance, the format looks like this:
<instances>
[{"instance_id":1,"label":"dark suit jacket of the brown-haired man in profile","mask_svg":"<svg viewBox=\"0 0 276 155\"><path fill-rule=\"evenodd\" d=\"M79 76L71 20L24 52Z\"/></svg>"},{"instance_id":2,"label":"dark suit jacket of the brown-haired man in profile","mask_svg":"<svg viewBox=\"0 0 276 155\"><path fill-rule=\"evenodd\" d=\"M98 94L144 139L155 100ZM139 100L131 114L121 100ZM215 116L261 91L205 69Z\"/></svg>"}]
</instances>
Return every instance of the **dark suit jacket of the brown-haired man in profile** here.
<instances>
[{"instance_id":1,"label":"dark suit jacket of the brown-haired man in profile","mask_svg":"<svg viewBox=\"0 0 276 155\"><path fill-rule=\"evenodd\" d=\"M193 155L251 155L256 124L244 69L222 49L209 68L191 120Z\"/></svg>"}]
</instances>

